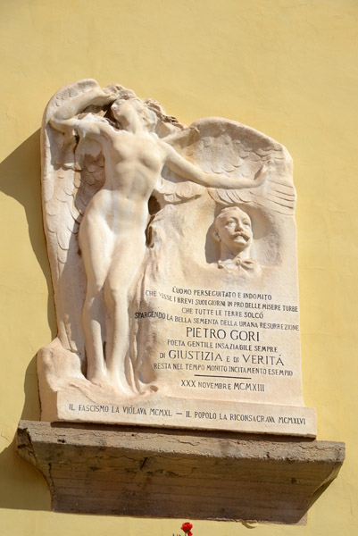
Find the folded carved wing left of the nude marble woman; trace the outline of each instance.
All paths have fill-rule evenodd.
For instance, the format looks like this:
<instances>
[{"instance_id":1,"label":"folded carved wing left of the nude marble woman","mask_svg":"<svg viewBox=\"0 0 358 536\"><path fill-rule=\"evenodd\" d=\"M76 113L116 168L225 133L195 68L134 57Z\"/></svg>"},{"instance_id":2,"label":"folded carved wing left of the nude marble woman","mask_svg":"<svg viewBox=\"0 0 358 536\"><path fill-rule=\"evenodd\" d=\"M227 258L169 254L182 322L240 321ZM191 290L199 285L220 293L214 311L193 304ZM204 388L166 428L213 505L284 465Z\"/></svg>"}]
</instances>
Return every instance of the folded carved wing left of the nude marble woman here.
<instances>
[{"instance_id":1,"label":"folded carved wing left of the nude marble woman","mask_svg":"<svg viewBox=\"0 0 358 536\"><path fill-rule=\"evenodd\" d=\"M95 88L81 80L60 89L46 107L42 125L42 191L47 249L54 283L58 337L84 356L81 312L86 276L79 252L79 223L89 200L104 183L104 159L96 142L54 130L55 110Z\"/></svg>"}]
</instances>

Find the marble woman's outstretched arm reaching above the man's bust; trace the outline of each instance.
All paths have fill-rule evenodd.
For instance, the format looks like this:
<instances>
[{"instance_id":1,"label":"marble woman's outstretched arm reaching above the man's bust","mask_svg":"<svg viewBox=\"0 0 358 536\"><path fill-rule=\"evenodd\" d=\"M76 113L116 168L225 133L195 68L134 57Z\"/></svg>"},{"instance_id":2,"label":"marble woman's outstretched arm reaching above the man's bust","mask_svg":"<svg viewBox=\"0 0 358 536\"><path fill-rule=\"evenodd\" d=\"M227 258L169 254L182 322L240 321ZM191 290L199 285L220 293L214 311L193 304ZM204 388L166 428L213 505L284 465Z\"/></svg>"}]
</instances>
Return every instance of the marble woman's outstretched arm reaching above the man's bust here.
<instances>
[{"instance_id":1,"label":"marble woman's outstretched arm reaching above the man's bust","mask_svg":"<svg viewBox=\"0 0 358 536\"><path fill-rule=\"evenodd\" d=\"M164 149L165 165L167 165L172 172L177 173L182 179L193 180L193 182L201 184L206 188L253 188L261 186L266 179L268 168L264 164L255 174L253 180L233 179L232 177L226 177L224 175L213 175L211 173L203 172L199 167L180 156L173 147L165 142L164 145L166 146Z\"/></svg>"}]
</instances>

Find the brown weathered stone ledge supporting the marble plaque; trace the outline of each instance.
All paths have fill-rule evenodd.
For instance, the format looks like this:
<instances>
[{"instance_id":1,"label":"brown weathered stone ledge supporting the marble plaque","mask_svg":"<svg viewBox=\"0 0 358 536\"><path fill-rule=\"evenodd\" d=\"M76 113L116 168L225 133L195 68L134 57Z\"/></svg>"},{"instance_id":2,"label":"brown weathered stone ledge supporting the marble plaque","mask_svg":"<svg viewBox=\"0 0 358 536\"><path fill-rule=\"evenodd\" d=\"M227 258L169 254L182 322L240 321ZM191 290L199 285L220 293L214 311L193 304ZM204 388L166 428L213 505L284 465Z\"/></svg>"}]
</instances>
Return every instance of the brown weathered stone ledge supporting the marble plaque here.
<instances>
[{"instance_id":1,"label":"brown weathered stone ledge supporting the marble plaque","mask_svg":"<svg viewBox=\"0 0 358 536\"><path fill-rule=\"evenodd\" d=\"M21 421L56 512L302 524L345 444L223 431Z\"/></svg>"}]
</instances>

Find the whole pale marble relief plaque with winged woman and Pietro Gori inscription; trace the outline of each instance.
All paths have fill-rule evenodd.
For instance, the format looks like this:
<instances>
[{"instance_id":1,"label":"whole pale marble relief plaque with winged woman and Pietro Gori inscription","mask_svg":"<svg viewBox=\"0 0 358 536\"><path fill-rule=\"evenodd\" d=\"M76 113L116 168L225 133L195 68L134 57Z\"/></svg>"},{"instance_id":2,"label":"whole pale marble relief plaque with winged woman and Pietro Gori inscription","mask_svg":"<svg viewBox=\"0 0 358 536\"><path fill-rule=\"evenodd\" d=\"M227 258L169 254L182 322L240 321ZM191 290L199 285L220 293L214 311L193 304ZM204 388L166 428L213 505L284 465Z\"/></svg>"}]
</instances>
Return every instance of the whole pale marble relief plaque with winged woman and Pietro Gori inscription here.
<instances>
[{"instance_id":1,"label":"whole pale marble relief plaque with winged woman and Pietro Gori inscription","mask_svg":"<svg viewBox=\"0 0 358 536\"><path fill-rule=\"evenodd\" d=\"M250 411L261 403L300 406L306 415L299 334L292 363L285 357L285 397L279 383L270 387L262 376L269 361L272 370L284 370L286 342L278 349L271 328L257 323L282 321L267 318L275 311L270 289L277 290L277 312L284 305L297 310L296 194L284 147L235 121L206 118L186 127L153 99L80 80L47 105L42 157L58 322L56 339L37 357L43 419L242 429L190 421L195 408L210 414L207 407L223 404L224 415L230 403ZM226 301L235 296L244 311ZM260 315L245 315L254 306ZM261 372L240 388L239 347L263 339L255 346L276 350L269 359L260 349ZM219 351L219 343L232 351ZM239 363L254 364L259 350L244 351ZM226 373L212 374L221 372L213 364ZM204 377L223 392L203 387ZM303 434L312 434L310 415L301 417L311 419Z\"/></svg>"}]
</instances>

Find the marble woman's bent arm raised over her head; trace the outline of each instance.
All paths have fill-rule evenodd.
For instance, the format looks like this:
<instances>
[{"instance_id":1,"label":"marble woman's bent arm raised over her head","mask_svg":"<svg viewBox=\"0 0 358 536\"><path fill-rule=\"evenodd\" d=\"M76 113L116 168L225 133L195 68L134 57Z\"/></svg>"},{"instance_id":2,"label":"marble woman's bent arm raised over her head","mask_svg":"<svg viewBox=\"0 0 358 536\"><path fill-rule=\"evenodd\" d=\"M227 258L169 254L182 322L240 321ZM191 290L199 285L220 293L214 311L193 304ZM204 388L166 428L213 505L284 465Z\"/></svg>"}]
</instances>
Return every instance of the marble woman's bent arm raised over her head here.
<instances>
[{"instance_id":1,"label":"marble woman's bent arm raised over her head","mask_svg":"<svg viewBox=\"0 0 358 536\"><path fill-rule=\"evenodd\" d=\"M77 121L75 116L87 106L106 105L112 103L115 99L115 95L106 93L102 88L91 89L60 106L50 119L51 126L61 132L69 132L75 128Z\"/></svg>"}]
</instances>

